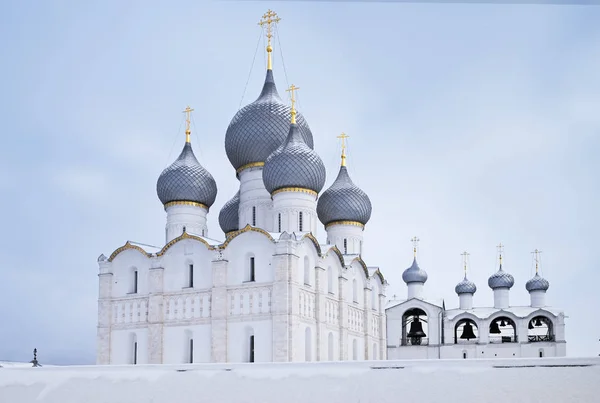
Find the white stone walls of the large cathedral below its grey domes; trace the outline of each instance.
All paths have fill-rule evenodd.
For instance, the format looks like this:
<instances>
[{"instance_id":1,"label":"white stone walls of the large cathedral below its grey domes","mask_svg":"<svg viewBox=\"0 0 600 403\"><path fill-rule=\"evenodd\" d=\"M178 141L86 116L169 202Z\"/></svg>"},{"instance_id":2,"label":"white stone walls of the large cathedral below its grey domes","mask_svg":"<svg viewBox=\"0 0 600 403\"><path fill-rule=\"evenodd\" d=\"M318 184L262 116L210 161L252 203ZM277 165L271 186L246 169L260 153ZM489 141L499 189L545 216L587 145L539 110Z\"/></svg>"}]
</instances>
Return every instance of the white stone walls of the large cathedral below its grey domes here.
<instances>
[{"instance_id":1,"label":"white stone walls of the large cathedral below its grey domes","mask_svg":"<svg viewBox=\"0 0 600 403\"><path fill-rule=\"evenodd\" d=\"M272 226L283 210L274 212L256 183L248 190L252 175L240 177L248 185L240 222L252 220L254 192L256 223ZM306 230L316 231L315 197L307 196L274 199L286 208L297 199L310 217ZM189 230L207 231L206 214L197 212L168 207L160 249L128 242L99 258L98 364L385 359L379 269L306 231L246 225L215 241ZM286 228L294 230L289 220Z\"/></svg>"}]
</instances>

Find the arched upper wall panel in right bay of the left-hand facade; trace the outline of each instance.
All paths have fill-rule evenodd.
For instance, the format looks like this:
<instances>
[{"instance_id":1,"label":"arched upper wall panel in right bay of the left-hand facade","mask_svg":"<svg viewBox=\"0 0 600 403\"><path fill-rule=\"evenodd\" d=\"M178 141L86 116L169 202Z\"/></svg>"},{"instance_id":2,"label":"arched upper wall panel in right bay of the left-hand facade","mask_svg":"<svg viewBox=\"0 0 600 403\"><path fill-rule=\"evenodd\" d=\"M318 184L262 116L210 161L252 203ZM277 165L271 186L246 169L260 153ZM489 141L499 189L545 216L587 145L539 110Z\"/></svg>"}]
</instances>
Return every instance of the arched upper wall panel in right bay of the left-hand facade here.
<instances>
[{"instance_id":1,"label":"arched upper wall panel in right bay of the left-hand facade","mask_svg":"<svg viewBox=\"0 0 600 403\"><path fill-rule=\"evenodd\" d=\"M265 234L247 231L235 237L225 248L224 258L227 265L227 285L234 286L247 283L250 278L251 258L254 258L256 283L273 281L271 258L275 246Z\"/></svg>"}]
</instances>

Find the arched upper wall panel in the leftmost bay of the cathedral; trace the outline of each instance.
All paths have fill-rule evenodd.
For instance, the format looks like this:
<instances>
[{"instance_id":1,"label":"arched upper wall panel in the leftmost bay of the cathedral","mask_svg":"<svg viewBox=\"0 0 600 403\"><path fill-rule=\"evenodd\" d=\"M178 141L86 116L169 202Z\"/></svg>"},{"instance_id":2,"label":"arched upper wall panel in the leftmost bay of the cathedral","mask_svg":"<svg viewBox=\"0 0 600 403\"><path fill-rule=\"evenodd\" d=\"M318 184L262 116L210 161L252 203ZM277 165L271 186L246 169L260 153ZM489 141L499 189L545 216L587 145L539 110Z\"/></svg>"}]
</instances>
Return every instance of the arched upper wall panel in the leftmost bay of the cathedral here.
<instances>
[{"instance_id":1,"label":"arched upper wall panel in the leftmost bay of the cathedral","mask_svg":"<svg viewBox=\"0 0 600 403\"><path fill-rule=\"evenodd\" d=\"M124 250L111 262L113 273L112 298L135 294L135 275L137 271L137 294L148 292L148 269L150 259L134 249Z\"/></svg>"}]
</instances>

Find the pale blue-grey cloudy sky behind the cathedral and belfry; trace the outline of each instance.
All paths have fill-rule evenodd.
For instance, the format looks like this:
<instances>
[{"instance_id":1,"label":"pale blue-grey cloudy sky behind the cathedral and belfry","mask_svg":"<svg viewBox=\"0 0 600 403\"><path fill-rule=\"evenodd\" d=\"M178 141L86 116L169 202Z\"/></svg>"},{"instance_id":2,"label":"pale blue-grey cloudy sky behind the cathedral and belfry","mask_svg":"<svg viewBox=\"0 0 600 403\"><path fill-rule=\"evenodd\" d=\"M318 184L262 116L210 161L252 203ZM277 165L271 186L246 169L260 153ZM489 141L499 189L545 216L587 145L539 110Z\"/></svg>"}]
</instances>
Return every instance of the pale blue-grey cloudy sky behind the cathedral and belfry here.
<instances>
[{"instance_id":1,"label":"pale blue-grey cloudy sky behind the cathedral and belfry","mask_svg":"<svg viewBox=\"0 0 600 403\"><path fill-rule=\"evenodd\" d=\"M96 258L164 242L156 180L188 104L222 237L238 186L225 130L260 92L268 8L282 18L275 79L283 96L301 88L326 186L350 135L373 203L364 258L388 294L406 296L416 235L426 297L458 305L467 250L475 304L492 305L502 242L511 304L526 305L538 248L568 355L598 354L600 7L23 0L0 3L0 360L37 347L42 363L94 362Z\"/></svg>"}]
</instances>

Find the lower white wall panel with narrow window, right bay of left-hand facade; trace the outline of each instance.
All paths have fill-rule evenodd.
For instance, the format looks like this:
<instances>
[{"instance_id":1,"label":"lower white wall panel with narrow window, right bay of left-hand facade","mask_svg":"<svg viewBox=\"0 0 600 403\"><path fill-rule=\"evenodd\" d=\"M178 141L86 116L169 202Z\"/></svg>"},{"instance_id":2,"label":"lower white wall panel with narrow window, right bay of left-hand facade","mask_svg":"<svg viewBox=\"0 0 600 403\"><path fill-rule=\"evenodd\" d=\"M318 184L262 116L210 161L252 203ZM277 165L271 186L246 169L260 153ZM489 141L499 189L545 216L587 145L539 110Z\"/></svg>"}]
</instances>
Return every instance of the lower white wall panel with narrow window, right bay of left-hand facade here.
<instances>
[{"instance_id":1,"label":"lower white wall panel with narrow window, right bay of left-hand facade","mask_svg":"<svg viewBox=\"0 0 600 403\"><path fill-rule=\"evenodd\" d=\"M254 361L273 360L273 326L270 319L265 319L227 323L228 362L249 362L251 336L254 336Z\"/></svg>"}]
</instances>

